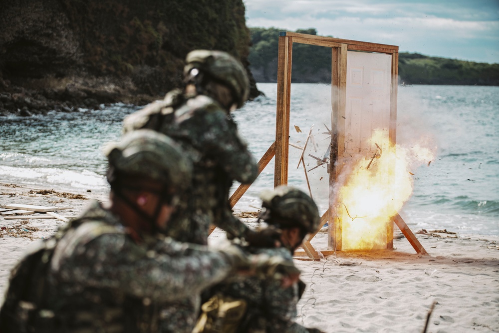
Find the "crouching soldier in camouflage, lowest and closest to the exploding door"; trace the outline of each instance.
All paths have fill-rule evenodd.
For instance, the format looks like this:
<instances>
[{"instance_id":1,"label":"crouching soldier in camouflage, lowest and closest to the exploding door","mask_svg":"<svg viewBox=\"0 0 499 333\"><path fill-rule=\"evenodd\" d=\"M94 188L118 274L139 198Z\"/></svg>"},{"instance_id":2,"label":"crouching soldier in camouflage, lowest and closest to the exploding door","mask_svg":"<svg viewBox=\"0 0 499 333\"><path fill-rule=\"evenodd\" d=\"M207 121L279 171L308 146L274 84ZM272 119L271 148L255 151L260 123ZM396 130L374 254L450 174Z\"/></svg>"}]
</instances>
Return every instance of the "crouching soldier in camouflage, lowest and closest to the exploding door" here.
<instances>
[{"instance_id":1,"label":"crouching soldier in camouflage, lowest and closest to the exploding door","mask_svg":"<svg viewBox=\"0 0 499 333\"><path fill-rule=\"evenodd\" d=\"M261 199L263 211L259 219L281 231L281 246L247 247L246 250L280 256L293 265L294 250L301 245L305 235L315 232L319 225L317 206L302 191L286 186L263 192ZM307 329L294 322L296 304L304 288L301 281L292 288L283 289L279 284L257 277L239 283L223 282L211 289L214 296L203 305L203 314L193 333L320 333L320 330ZM245 306L247 309L238 315L221 315L218 310L227 312L231 304L243 311ZM231 321L231 318L238 320Z\"/></svg>"}]
</instances>

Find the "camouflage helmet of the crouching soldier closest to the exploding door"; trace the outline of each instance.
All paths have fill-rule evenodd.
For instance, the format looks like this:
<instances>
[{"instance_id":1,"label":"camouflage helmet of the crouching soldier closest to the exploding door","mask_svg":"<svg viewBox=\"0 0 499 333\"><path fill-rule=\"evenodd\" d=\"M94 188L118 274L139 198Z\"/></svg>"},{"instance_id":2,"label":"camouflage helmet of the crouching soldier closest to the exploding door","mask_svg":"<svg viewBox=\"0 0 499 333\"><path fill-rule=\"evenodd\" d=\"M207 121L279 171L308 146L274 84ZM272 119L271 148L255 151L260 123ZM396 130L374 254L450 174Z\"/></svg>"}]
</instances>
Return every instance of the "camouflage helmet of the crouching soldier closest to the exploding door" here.
<instances>
[{"instance_id":1,"label":"camouflage helmet of the crouching soldier closest to the exploding door","mask_svg":"<svg viewBox=\"0 0 499 333\"><path fill-rule=\"evenodd\" d=\"M280 228L301 227L307 233L317 231L319 212L315 202L301 190L278 186L260 194L262 208L260 219Z\"/></svg>"}]
</instances>

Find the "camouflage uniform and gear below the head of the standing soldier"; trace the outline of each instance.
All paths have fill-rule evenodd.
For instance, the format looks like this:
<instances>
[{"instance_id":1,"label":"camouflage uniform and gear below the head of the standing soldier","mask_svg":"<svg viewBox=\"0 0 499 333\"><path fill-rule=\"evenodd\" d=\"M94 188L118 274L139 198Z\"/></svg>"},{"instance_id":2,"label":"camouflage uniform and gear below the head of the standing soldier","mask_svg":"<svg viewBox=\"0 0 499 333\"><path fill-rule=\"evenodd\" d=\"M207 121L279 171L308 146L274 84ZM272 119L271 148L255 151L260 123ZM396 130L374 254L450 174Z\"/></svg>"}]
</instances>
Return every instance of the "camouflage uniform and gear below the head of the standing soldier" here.
<instances>
[{"instance_id":1,"label":"camouflage uniform and gear below the head of the standing soldier","mask_svg":"<svg viewBox=\"0 0 499 333\"><path fill-rule=\"evenodd\" d=\"M187 97L180 90L168 93L141 111L125 118L124 132L150 128L180 142L193 157L191 216L177 217L169 236L191 243L207 244L210 224L235 237L248 227L232 215L228 203L233 180L251 183L257 166L247 144L238 135L234 120L214 99Z\"/></svg>"}]
</instances>

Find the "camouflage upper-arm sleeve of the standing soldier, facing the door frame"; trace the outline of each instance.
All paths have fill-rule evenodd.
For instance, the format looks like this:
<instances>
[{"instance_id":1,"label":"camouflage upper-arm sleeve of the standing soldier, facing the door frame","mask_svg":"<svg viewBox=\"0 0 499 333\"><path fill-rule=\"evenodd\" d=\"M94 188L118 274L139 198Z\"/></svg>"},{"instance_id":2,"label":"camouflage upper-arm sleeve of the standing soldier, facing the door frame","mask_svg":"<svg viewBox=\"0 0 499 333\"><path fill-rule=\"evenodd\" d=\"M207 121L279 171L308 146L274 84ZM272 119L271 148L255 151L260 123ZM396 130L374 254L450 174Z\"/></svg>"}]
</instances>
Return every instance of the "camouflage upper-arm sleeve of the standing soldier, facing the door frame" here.
<instances>
[{"instance_id":1,"label":"camouflage upper-arm sleeve of the standing soldier, facing the door frame","mask_svg":"<svg viewBox=\"0 0 499 333\"><path fill-rule=\"evenodd\" d=\"M236 123L225 112L211 111L201 119L198 133L206 153L215 156L231 179L249 184L257 176L256 162L246 142L239 136Z\"/></svg>"}]
</instances>

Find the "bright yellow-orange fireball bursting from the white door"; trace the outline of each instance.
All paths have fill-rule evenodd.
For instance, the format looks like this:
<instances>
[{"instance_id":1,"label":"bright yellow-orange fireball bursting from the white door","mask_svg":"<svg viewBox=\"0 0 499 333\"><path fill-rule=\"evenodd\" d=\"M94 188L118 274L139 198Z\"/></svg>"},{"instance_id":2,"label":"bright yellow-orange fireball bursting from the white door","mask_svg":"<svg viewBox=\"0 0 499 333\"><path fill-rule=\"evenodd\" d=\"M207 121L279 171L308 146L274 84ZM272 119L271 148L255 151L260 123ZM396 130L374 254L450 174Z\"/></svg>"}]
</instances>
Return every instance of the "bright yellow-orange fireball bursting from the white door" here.
<instances>
[{"instance_id":1,"label":"bright yellow-orange fireball bursting from the white door","mask_svg":"<svg viewBox=\"0 0 499 333\"><path fill-rule=\"evenodd\" d=\"M343 250L386 249L393 237L387 233L388 223L413 193L411 168L434 158L428 143L394 145L383 130L376 130L367 146L367 154L339 166L338 179L344 181L334 200Z\"/></svg>"}]
</instances>

